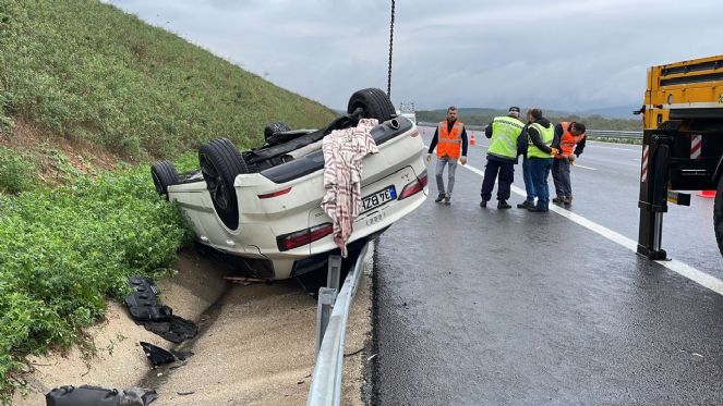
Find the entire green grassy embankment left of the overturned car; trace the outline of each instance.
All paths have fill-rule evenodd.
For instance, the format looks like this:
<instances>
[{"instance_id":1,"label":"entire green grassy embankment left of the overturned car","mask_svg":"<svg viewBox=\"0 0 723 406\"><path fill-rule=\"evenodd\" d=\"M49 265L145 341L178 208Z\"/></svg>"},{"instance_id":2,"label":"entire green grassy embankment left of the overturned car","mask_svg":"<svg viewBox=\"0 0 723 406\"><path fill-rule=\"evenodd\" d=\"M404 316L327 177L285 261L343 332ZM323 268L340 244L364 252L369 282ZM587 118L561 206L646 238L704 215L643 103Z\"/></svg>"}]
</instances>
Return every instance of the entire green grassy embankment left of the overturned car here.
<instances>
[{"instance_id":1,"label":"entire green grassy embankment left of the overturned car","mask_svg":"<svg viewBox=\"0 0 723 406\"><path fill-rule=\"evenodd\" d=\"M129 274L162 273L189 242L149 160L333 118L110 5L0 2L0 403L25 356L76 343Z\"/></svg>"}]
</instances>

